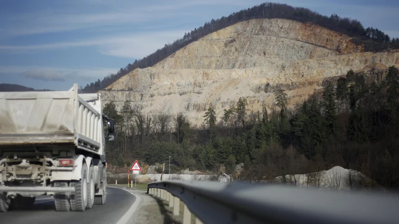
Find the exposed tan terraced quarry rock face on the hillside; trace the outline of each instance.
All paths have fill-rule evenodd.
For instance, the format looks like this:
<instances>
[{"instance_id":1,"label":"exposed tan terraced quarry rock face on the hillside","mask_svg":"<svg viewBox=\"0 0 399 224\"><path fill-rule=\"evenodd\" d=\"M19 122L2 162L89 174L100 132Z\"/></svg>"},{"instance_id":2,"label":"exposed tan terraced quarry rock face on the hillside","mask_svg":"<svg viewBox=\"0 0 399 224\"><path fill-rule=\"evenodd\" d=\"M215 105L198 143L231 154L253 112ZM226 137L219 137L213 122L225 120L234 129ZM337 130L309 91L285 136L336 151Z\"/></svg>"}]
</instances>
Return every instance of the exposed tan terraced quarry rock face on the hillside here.
<instances>
[{"instance_id":1,"label":"exposed tan terraced quarry rock face on the hillside","mask_svg":"<svg viewBox=\"0 0 399 224\"><path fill-rule=\"evenodd\" d=\"M100 91L120 110L130 100L143 113L185 113L200 125L209 106L218 119L238 98L249 110L271 104L277 88L290 105L349 70L399 66L399 51L364 52L351 37L287 19L252 19L213 32L153 67L135 69Z\"/></svg>"}]
</instances>

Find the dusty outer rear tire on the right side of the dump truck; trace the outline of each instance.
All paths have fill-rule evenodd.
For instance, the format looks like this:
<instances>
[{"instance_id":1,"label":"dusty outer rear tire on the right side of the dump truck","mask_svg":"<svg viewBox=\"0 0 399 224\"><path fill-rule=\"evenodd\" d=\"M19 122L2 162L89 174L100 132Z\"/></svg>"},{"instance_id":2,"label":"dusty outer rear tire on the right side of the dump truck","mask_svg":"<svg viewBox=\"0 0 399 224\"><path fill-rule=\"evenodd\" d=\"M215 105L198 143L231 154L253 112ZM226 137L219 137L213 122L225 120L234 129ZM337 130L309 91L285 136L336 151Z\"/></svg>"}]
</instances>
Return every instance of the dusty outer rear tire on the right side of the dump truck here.
<instances>
[{"instance_id":1,"label":"dusty outer rear tire on the right side of the dump truck","mask_svg":"<svg viewBox=\"0 0 399 224\"><path fill-rule=\"evenodd\" d=\"M82 178L80 181L71 181L70 186L75 187L75 192L70 196L71 210L77 212L86 211L87 206L87 165L83 164Z\"/></svg>"}]
</instances>

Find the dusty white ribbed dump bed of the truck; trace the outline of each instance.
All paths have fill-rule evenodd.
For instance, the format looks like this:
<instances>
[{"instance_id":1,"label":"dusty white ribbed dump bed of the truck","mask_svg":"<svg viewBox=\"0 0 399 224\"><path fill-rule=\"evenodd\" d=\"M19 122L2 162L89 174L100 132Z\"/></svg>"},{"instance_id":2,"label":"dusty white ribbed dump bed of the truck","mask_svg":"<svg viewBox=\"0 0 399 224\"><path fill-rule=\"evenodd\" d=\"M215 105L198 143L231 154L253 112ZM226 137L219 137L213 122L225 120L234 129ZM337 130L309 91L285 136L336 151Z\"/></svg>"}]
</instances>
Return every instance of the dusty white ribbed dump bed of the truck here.
<instances>
[{"instance_id":1,"label":"dusty white ribbed dump bed of the truck","mask_svg":"<svg viewBox=\"0 0 399 224\"><path fill-rule=\"evenodd\" d=\"M83 98L77 84L69 91L0 93L0 146L74 144L103 154L101 101Z\"/></svg>"}]
</instances>

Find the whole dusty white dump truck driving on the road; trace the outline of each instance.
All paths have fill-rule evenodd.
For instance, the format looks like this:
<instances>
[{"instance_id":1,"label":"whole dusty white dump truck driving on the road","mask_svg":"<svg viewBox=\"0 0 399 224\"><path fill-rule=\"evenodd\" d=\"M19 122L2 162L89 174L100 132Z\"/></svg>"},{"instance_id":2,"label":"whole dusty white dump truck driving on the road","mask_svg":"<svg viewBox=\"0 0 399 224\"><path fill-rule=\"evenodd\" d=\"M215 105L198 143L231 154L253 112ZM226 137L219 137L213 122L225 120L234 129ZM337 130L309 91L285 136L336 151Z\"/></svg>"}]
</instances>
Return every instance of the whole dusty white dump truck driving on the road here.
<instances>
[{"instance_id":1,"label":"whole dusty white dump truck driving on the road","mask_svg":"<svg viewBox=\"0 0 399 224\"><path fill-rule=\"evenodd\" d=\"M105 204L105 137L114 136L100 94L78 94L77 84L0 93L0 212L31 206L41 195L54 197L56 211Z\"/></svg>"}]
</instances>

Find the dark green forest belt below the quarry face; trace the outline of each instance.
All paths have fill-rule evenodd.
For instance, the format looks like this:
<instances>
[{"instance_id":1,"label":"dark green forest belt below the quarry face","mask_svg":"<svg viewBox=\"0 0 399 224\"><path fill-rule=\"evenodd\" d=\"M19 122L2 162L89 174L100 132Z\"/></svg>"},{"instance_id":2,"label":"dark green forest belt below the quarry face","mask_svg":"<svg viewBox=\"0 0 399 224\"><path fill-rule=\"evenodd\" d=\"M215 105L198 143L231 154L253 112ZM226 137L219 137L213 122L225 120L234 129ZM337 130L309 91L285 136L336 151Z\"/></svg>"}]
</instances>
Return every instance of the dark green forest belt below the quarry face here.
<instances>
[{"instance_id":1,"label":"dark green forest belt below the quarry face","mask_svg":"<svg viewBox=\"0 0 399 224\"><path fill-rule=\"evenodd\" d=\"M130 102L118 113L111 102L104 113L116 121L116 141L106 143L107 159L123 167L171 156L172 173L224 165L231 174L244 163L240 178L253 181L339 165L368 176L363 186L399 189L399 72L393 66L379 74L351 70L326 79L321 93L293 108L282 90L259 112L244 98L220 120L209 107L199 128L182 113L143 114Z\"/></svg>"}]
</instances>

